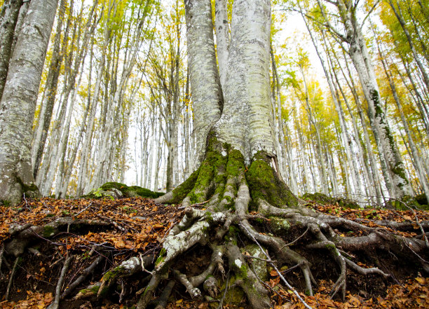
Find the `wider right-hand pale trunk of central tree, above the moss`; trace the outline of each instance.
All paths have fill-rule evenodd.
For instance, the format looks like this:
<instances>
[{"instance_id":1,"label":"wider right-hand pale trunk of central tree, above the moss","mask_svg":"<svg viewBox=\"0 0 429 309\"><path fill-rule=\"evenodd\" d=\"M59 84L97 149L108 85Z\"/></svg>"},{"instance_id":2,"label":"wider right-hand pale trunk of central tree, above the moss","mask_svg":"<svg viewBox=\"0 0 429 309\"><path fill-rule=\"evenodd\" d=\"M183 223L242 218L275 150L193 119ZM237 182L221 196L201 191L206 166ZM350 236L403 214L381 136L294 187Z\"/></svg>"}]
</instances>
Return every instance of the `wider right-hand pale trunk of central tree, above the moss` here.
<instances>
[{"instance_id":1,"label":"wider right-hand pale trunk of central tree, above the moss","mask_svg":"<svg viewBox=\"0 0 429 309\"><path fill-rule=\"evenodd\" d=\"M269 94L270 21L269 0L233 4L224 109L216 128L220 139L241 151L247 163L257 151L275 156Z\"/></svg>"}]
</instances>

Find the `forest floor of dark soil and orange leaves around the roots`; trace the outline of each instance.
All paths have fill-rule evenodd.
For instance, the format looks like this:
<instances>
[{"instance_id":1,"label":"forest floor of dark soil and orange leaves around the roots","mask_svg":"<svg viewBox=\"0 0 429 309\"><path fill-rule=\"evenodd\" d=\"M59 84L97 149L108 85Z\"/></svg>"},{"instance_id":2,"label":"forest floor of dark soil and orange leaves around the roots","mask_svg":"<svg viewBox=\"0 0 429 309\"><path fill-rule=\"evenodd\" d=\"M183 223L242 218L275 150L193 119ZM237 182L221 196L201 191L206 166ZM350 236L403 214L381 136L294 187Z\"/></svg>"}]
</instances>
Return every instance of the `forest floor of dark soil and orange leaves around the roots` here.
<instances>
[{"instance_id":1,"label":"forest floor of dark soil and orange leaves around the roots","mask_svg":"<svg viewBox=\"0 0 429 309\"><path fill-rule=\"evenodd\" d=\"M204 209L204 205L194 207ZM312 207L316 212L352 219L372 227L376 227L374 220L416 222L417 218L418 221L429 221L429 212L426 211L353 210L315 202L309 202L308 207ZM88 283L97 282L108 270L121 261L130 259L131 256L139 254L158 256L166 233L183 215L184 211L179 205L161 205L147 198L117 200L42 198L24 200L18 207L0 207L0 308L47 308L55 298L55 288L60 278L62 264L69 256L74 256L74 260L65 274L62 293L73 285L82 270L88 268L97 256L104 256L102 263L98 264L93 273L87 274L86 284L77 286L79 289L86 287ZM59 218L64 220L71 218L69 222L74 223L50 231L49 224ZM76 222L79 224L75 224ZM14 256L4 254L5 245L14 235L32 226L43 226L43 233L34 235L20 258L15 259ZM417 224L415 233L387 229L404 237L414 237L419 233ZM194 247L187 256L189 259L178 261L181 265L175 267L194 269L198 273L210 259L210 252L200 252L198 247ZM382 263L386 261L395 263L394 257L383 259ZM365 259L358 265L373 267L366 265ZM391 266L389 265L389 269ZM415 268L408 269L407 266L398 264L390 273L392 277L387 280L377 275L362 277L350 272L345 302L339 298L331 299L329 296L334 284L332 280L335 280L336 276L332 266L320 264L315 268L318 286L315 287L314 296L301 293L304 286L299 279L299 270L282 269L283 275L300 291L301 297L312 308L429 308L429 277L422 277L424 274ZM139 291L141 281L141 274L124 278L118 282L119 289L116 288L116 292L112 292L101 301L73 298L79 291L75 289L60 301L60 308L130 308L136 303L137 296L142 293ZM275 309L304 308L297 296L282 285L275 270L271 270L265 283L271 292ZM167 308L209 309L218 306L218 303L210 303L205 299L191 300L186 290L178 285L169 301ZM248 308L248 305L243 300L235 305L225 304L223 308Z\"/></svg>"}]
</instances>

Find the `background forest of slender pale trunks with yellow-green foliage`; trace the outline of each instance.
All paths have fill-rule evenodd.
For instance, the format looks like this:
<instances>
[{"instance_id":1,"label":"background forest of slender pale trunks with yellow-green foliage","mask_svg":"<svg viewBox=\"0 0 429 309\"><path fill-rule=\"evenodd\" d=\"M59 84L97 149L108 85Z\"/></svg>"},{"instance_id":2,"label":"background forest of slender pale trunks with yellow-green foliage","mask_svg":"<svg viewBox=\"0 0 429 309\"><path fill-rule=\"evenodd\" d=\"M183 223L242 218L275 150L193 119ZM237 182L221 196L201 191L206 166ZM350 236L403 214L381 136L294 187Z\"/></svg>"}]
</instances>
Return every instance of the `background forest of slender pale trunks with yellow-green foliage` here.
<instances>
[{"instance_id":1,"label":"background forest of slender pale trunks with yellow-green foliage","mask_svg":"<svg viewBox=\"0 0 429 309\"><path fill-rule=\"evenodd\" d=\"M32 165L42 195L79 196L107 181L155 191L182 183L196 158L182 1L61 0L57 10L33 125ZM428 4L355 1L353 11L408 194L428 195ZM298 195L362 203L402 198L372 130L341 22L332 1L273 2L271 103L280 172Z\"/></svg>"}]
</instances>

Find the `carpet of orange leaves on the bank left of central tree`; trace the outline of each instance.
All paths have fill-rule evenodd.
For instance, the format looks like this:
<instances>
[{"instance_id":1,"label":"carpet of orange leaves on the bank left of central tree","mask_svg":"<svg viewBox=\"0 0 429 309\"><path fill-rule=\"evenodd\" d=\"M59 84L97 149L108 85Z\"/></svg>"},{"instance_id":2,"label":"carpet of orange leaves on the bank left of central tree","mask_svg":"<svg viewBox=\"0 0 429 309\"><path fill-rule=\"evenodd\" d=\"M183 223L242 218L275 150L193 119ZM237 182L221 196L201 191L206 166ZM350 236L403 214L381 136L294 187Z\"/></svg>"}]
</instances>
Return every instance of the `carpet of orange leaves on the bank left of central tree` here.
<instances>
[{"instance_id":1,"label":"carpet of orange leaves on the bank left of central tree","mask_svg":"<svg viewBox=\"0 0 429 309\"><path fill-rule=\"evenodd\" d=\"M27 200L18 207L0 207L0 243L10 237L12 226L45 225L57 217L107 221L110 226L95 229L80 226L62 233L64 249L87 249L94 243L108 242L118 250L144 250L160 245L165 233L179 221L182 212L177 207L158 205L147 198L118 200Z\"/></svg>"}]
</instances>

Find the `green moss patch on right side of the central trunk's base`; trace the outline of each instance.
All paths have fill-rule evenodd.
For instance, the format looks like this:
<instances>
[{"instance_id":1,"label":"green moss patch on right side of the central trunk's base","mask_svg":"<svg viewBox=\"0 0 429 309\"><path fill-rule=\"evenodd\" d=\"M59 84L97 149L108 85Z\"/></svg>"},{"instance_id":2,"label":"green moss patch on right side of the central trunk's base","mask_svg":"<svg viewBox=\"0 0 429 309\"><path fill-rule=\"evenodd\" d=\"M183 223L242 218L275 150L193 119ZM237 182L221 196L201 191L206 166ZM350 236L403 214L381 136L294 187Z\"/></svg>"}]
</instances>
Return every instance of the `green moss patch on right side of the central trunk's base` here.
<instances>
[{"instance_id":1,"label":"green moss patch on right side of the central trunk's base","mask_svg":"<svg viewBox=\"0 0 429 309\"><path fill-rule=\"evenodd\" d=\"M254 155L254 160L246 173L252 203L261 198L276 207L298 207L297 198L286 184L278 179L275 170L270 166L270 161L264 151L259 151Z\"/></svg>"}]
</instances>

